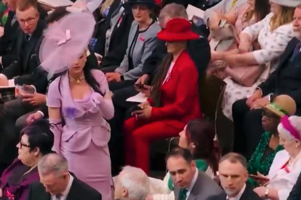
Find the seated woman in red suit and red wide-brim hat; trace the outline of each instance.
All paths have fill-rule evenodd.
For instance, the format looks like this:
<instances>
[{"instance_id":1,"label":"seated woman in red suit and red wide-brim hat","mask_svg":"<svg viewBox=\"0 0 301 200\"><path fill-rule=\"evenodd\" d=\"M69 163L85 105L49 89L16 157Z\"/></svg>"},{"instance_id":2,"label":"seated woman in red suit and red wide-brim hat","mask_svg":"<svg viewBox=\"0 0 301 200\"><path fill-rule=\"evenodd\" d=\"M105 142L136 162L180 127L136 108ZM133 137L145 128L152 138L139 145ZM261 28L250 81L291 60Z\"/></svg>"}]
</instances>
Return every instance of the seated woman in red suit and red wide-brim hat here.
<instances>
[{"instance_id":1,"label":"seated woman in red suit and red wide-brim hat","mask_svg":"<svg viewBox=\"0 0 301 200\"><path fill-rule=\"evenodd\" d=\"M158 39L166 41L168 56L153 81L151 98L126 120L126 164L149 171L149 143L177 136L187 122L201 118L197 68L186 51L188 40L198 39L191 24L172 19Z\"/></svg>"}]
</instances>

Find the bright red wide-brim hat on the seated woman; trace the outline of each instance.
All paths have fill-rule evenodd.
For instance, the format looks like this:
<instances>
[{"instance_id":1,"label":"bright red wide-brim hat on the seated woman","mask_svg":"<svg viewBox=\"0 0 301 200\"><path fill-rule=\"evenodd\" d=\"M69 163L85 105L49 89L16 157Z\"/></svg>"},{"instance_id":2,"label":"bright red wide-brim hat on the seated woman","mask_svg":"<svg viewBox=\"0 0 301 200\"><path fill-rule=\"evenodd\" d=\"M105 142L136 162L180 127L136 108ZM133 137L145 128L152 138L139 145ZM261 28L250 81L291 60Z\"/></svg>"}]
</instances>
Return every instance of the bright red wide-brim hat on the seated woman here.
<instances>
[{"instance_id":1,"label":"bright red wide-brim hat on the seated woman","mask_svg":"<svg viewBox=\"0 0 301 200\"><path fill-rule=\"evenodd\" d=\"M188 20L177 18L169 20L166 28L157 33L158 39L166 42L197 40L199 35L191 31Z\"/></svg>"}]
</instances>

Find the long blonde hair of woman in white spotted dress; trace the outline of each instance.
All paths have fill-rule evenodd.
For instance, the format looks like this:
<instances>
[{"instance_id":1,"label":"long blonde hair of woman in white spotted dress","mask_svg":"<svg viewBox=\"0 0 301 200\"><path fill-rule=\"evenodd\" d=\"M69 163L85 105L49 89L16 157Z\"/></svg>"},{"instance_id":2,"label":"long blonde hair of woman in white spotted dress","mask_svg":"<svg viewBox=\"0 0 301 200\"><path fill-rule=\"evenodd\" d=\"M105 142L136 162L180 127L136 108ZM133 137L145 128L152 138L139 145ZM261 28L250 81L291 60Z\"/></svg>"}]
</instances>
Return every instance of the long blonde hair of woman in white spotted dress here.
<instances>
[{"instance_id":1,"label":"long blonde hair of woman in white spotted dress","mask_svg":"<svg viewBox=\"0 0 301 200\"><path fill-rule=\"evenodd\" d=\"M287 7L287 6L281 6L281 14L279 15L273 15L271 17L270 21L270 26L271 29L270 31L274 31L277 29L279 26L282 26L284 24L290 23L293 21L293 16L294 16L295 8Z\"/></svg>"}]
</instances>

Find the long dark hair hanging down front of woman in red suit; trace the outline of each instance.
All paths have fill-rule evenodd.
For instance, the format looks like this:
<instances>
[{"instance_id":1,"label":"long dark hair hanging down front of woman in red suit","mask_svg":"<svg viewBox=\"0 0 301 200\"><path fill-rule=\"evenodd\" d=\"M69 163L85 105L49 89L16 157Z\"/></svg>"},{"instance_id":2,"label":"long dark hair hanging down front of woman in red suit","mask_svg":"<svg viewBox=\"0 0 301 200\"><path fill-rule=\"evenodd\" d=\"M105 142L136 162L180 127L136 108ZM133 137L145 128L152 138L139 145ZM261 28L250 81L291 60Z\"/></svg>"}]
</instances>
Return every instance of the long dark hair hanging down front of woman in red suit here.
<instances>
[{"instance_id":1,"label":"long dark hair hanging down front of woman in red suit","mask_svg":"<svg viewBox=\"0 0 301 200\"><path fill-rule=\"evenodd\" d=\"M151 83L151 85L153 86L152 90L151 90L151 99L154 102L154 107L160 107L161 106L161 92L160 92L160 87L166 77L166 74L168 72L170 63L172 61L172 54L168 53L163 61L161 62L161 64L159 65L154 79Z\"/></svg>"}]
</instances>

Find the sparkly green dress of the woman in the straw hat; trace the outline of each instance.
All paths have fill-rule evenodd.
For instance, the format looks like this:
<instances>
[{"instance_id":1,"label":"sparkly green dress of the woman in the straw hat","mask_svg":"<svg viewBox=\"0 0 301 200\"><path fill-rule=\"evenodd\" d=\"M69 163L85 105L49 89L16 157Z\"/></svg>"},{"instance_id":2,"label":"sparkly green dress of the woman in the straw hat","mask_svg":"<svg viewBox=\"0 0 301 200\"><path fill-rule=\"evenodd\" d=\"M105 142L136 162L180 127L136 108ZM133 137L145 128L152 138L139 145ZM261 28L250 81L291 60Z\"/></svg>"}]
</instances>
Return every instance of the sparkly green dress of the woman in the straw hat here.
<instances>
[{"instance_id":1,"label":"sparkly green dress of the woman in the straw hat","mask_svg":"<svg viewBox=\"0 0 301 200\"><path fill-rule=\"evenodd\" d=\"M270 153L268 156L265 156L264 159L262 158L266 148L268 147L271 137L272 134L268 132L262 134L259 144L257 145L255 152L249 160L249 174L257 175L257 171L259 171L259 173L262 175L268 175L268 171L270 170L276 153L280 150L283 150L283 147L281 145L278 145L278 147L274 151L272 151L272 153ZM258 183L251 178L248 179L248 182L251 183L254 187L259 186Z\"/></svg>"}]
</instances>

